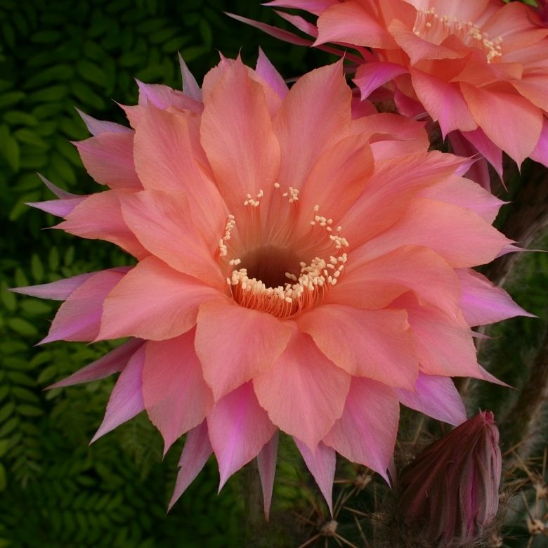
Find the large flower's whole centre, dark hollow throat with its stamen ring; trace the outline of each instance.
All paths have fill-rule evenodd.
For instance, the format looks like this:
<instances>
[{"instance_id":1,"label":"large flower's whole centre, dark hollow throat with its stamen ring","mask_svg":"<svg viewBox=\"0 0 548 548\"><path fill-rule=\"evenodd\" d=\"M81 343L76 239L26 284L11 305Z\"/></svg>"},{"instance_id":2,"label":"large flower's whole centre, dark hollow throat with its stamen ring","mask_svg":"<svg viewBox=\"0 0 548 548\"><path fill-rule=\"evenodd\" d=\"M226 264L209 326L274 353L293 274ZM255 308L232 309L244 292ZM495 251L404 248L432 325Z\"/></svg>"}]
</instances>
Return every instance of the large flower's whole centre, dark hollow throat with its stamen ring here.
<instances>
[{"instance_id":1,"label":"large flower's whole centre, dark hollow throat with its stamen ring","mask_svg":"<svg viewBox=\"0 0 548 548\"><path fill-rule=\"evenodd\" d=\"M282 211L285 216L275 217L281 229L276 226L269 227L275 230L263 231L275 235L275 241L240 244L240 256L228 259L235 256L229 246L232 247L230 240L236 226L242 242L253 241L249 237L250 231L257 233L254 222L264 195L261 190L256 199L247 195L243 202L247 208L247 218L243 219L242 228L237 225L235 216L228 216L225 234L219 240L218 255L228 266L226 283L237 304L268 312L278 318L289 318L318 304L337 284L348 258L344 252L348 242L341 236L340 226L332 228L332 219L318 214L318 205L311 212L309 233L295 233L292 229L299 216L299 191L289 187L287 193L282 193L278 183L274 186L278 193L276 197L283 202L280 206L273 206L273 197L270 207L289 208ZM324 258L314 256L313 249L318 255L323 254ZM239 268L233 268L235 266Z\"/></svg>"}]
</instances>

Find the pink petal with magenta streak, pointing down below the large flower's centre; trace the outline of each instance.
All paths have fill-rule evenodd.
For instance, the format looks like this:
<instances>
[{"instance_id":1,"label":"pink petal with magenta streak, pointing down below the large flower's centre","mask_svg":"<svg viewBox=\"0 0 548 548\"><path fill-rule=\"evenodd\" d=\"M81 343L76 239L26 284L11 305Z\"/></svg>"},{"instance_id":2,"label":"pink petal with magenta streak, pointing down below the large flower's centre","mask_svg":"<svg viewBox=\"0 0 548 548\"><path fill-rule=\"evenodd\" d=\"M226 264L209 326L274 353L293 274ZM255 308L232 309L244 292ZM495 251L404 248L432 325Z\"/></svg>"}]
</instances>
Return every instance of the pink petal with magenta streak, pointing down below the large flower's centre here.
<instances>
[{"instance_id":1,"label":"pink petal with magenta streak, pointing down below the large flower's centre","mask_svg":"<svg viewBox=\"0 0 548 548\"><path fill-rule=\"evenodd\" d=\"M221 476L219 491L235 471L259 454L276 431L251 382L216 403L207 417L207 427Z\"/></svg>"}]
</instances>

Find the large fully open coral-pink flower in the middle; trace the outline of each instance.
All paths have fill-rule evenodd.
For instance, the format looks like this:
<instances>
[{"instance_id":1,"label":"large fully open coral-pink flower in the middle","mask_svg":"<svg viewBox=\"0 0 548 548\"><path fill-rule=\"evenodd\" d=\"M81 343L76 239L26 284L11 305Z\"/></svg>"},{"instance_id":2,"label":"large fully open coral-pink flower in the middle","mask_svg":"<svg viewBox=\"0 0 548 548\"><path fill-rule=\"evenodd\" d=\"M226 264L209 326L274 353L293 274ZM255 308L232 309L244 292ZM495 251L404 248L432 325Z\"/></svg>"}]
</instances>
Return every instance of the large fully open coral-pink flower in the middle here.
<instances>
[{"instance_id":1,"label":"large fully open coral-pink flower in the middle","mask_svg":"<svg viewBox=\"0 0 548 548\"><path fill-rule=\"evenodd\" d=\"M139 87L131 128L83 115L108 190L34 204L136 266L18 289L65 301L42 342L129 337L54 385L120 372L94 439L146 410L166 451L188 432L172 503L214 452L221 486L258 459L268 511L278 430L331 504L336 452L389 478L400 402L464 421L450 377L492 379L470 327L525 313L471 270L511 244L469 159L353 119L341 63L290 90L262 53Z\"/></svg>"}]
</instances>

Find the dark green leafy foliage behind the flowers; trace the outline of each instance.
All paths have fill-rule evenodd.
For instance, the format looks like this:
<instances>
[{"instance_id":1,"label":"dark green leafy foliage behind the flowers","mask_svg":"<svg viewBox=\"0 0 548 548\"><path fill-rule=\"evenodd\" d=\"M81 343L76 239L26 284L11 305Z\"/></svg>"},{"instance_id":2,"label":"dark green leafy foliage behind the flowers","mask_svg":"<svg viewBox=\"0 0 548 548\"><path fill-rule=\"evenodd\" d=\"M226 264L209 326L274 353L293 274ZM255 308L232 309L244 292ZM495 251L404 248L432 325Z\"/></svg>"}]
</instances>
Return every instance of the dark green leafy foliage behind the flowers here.
<instances>
[{"instance_id":1,"label":"dark green leafy foliage behind the flowers","mask_svg":"<svg viewBox=\"0 0 548 548\"><path fill-rule=\"evenodd\" d=\"M44 388L110 347L33 346L57 304L6 291L127 263L105 242L43 230L56 219L25 205L52 197L37 171L74 193L98 190L70 144L88 136L75 106L124 123L112 100L136 102L134 77L179 87L177 51L198 81L217 63L217 50L229 57L241 51L254 63L261 44L288 78L329 60L223 11L280 25L272 11L249 0L0 0L0 548L242 545L238 479L217 496L214 463L166 514L181 441L162 462L162 441L145 416L88 445L113 379ZM544 317L547 256L530 256L521 268L514 295ZM514 320L497 331L495 358L504 355L514 372L540 339L544 321L533 321ZM518 341L510 352L500 342L506 334ZM509 382L518 377L503 374ZM485 398L500 407L504 396L495 388ZM294 456L291 448L282 450L289 464L280 464L281 474L291 478ZM281 483L276 504L297 508L302 494Z\"/></svg>"}]
</instances>

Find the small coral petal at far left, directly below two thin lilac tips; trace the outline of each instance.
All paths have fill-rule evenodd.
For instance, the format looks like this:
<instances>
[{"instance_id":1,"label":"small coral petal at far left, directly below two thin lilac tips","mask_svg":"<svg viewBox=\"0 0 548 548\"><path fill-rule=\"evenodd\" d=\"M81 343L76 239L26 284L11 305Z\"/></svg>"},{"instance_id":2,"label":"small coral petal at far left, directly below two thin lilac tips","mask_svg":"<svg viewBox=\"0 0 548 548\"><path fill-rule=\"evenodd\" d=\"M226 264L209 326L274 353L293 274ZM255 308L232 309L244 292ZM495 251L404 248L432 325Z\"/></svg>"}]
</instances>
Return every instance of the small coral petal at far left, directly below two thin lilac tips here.
<instances>
[{"instance_id":1,"label":"small coral petal at far left, directly below two thin lilac tips","mask_svg":"<svg viewBox=\"0 0 548 548\"><path fill-rule=\"evenodd\" d=\"M112 242L137 259L142 259L148 252L124 221L119 200L122 194L107 190L89 195L74 207L65 221L54 228L74 236Z\"/></svg>"}]
</instances>

